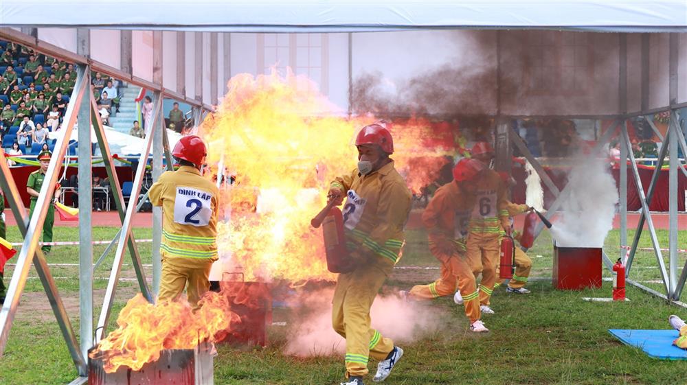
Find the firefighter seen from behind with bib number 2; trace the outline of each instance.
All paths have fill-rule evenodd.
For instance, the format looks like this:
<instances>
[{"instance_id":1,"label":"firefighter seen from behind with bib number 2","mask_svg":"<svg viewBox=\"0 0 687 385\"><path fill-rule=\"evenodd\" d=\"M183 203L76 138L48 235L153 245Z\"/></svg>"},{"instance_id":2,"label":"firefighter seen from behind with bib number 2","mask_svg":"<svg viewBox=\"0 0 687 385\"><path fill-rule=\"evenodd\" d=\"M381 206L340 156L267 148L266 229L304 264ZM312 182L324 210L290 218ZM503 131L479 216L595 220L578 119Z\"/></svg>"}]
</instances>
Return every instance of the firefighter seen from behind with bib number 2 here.
<instances>
[{"instance_id":1,"label":"firefighter seen from behind with bib number 2","mask_svg":"<svg viewBox=\"0 0 687 385\"><path fill-rule=\"evenodd\" d=\"M161 206L162 276L158 301L176 300L186 288L188 302L196 306L210 289L210 266L217 259L219 191L201 176L207 148L203 139L182 137L172 155L179 170L165 172L150 187L150 202Z\"/></svg>"}]
</instances>

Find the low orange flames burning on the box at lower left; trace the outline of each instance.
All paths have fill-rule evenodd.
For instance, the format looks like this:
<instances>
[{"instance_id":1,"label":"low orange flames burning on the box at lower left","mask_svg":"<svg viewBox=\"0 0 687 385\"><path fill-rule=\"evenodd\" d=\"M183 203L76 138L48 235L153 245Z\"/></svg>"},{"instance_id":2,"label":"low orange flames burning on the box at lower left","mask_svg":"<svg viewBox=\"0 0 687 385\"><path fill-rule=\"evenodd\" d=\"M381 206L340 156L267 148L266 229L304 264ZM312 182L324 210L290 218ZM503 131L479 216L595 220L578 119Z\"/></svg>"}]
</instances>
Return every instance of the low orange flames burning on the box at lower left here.
<instances>
[{"instance_id":1,"label":"low orange flames burning on the box at lower left","mask_svg":"<svg viewBox=\"0 0 687 385\"><path fill-rule=\"evenodd\" d=\"M117 318L117 329L90 353L102 358L106 373L128 366L137 371L157 361L164 349L193 349L199 341L214 342L219 331L240 318L230 309L227 296L207 292L193 311L186 301L148 303L142 294L130 299Z\"/></svg>"}]
</instances>

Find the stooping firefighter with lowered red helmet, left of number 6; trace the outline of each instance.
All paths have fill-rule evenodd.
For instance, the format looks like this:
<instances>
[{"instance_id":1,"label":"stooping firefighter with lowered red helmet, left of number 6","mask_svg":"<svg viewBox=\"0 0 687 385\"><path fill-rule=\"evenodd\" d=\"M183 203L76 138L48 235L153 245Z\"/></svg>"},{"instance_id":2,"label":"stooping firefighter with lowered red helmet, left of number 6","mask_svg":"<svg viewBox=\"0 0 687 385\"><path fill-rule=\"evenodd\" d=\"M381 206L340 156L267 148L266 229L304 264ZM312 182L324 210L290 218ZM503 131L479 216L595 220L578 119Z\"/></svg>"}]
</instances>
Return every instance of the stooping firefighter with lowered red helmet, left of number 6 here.
<instances>
[{"instance_id":1,"label":"stooping firefighter with lowered red helmet, left of number 6","mask_svg":"<svg viewBox=\"0 0 687 385\"><path fill-rule=\"evenodd\" d=\"M472 180L484 170L475 159L462 159L453 169L453 182L440 187L423 213L423 222L429 232L429 250L441 262L441 277L429 285L416 285L409 292L413 299L434 299L452 295L456 288L467 293L464 297L465 314L470 329L488 331L480 320L480 301L473 268L466 259L465 237L473 209Z\"/></svg>"}]
</instances>

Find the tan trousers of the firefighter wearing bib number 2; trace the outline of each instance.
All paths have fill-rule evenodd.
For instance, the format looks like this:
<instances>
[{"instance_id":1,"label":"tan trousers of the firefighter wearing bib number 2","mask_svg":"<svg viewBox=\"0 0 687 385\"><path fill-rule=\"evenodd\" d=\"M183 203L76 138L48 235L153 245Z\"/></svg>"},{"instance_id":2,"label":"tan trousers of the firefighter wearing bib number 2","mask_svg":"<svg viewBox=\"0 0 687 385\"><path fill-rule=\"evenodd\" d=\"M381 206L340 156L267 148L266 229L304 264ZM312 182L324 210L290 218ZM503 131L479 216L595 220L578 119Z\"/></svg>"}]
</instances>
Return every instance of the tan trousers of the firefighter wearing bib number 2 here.
<instances>
[{"instance_id":1,"label":"tan trousers of the firefighter wearing bib number 2","mask_svg":"<svg viewBox=\"0 0 687 385\"><path fill-rule=\"evenodd\" d=\"M210 290L210 267L212 261L207 261L206 266L200 268L187 268L170 264L168 259L162 259L160 294L157 301L175 301L185 287L188 303L195 307L201 296Z\"/></svg>"}]
</instances>

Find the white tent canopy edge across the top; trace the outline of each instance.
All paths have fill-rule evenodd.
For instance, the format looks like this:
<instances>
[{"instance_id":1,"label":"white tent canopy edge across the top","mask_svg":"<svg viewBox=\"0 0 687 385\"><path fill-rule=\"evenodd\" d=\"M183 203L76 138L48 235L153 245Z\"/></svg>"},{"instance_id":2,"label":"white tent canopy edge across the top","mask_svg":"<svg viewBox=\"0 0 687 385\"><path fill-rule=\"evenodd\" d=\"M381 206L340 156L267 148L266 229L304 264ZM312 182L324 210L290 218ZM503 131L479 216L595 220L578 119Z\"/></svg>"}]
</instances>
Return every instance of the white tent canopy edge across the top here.
<instances>
[{"instance_id":1,"label":"white tent canopy edge across the top","mask_svg":"<svg viewBox=\"0 0 687 385\"><path fill-rule=\"evenodd\" d=\"M562 27L685 32L686 1L67 1L4 0L7 26L203 32L367 32Z\"/></svg>"}]
</instances>

